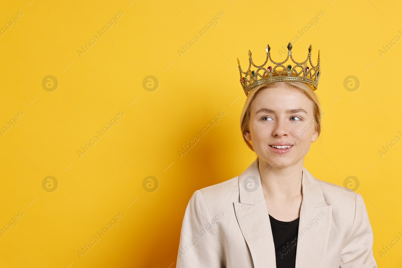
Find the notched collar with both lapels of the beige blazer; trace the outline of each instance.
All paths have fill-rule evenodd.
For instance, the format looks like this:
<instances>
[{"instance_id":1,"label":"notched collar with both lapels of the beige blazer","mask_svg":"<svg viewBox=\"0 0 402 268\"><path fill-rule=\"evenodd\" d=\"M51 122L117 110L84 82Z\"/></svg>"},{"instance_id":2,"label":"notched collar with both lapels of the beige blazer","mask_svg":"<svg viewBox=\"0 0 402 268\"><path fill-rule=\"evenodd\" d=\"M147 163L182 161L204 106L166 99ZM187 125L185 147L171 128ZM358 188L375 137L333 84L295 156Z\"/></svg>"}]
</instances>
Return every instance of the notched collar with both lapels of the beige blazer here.
<instances>
[{"instance_id":1,"label":"notched collar with both lapels of the beige blazer","mask_svg":"<svg viewBox=\"0 0 402 268\"><path fill-rule=\"evenodd\" d=\"M332 206L326 204L318 180L304 167L301 186L303 200L300 208L296 268L320 267L325 262L322 252L328 244ZM254 267L276 268L275 245L257 160L239 176L239 198L240 203L234 203L234 209ZM318 215L320 221L318 225L313 225L317 222Z\"/></svg>"}]
</instances>

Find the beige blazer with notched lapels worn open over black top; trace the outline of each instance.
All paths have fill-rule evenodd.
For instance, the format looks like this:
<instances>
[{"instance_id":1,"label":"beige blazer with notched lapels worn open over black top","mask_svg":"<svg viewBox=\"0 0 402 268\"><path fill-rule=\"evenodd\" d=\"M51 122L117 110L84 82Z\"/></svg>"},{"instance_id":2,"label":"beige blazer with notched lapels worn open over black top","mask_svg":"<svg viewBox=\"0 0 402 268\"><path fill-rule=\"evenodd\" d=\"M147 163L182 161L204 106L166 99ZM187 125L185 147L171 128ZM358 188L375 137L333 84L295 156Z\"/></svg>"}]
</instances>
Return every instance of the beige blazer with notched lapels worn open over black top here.
<instances>
[{"instance_id":1,"label":"beige blazer with notched lapels worn open over black top","mask_svg":"<svg viewBox=\"0 0 402 268\"><path fill-rule=\"evenodd\" d=\"M318 180L304 167L301 186L296 268L377 268L362 196ZM276 268L256 160L240 176L194 192L176 267Z\"/></svg>"}]
</instances>

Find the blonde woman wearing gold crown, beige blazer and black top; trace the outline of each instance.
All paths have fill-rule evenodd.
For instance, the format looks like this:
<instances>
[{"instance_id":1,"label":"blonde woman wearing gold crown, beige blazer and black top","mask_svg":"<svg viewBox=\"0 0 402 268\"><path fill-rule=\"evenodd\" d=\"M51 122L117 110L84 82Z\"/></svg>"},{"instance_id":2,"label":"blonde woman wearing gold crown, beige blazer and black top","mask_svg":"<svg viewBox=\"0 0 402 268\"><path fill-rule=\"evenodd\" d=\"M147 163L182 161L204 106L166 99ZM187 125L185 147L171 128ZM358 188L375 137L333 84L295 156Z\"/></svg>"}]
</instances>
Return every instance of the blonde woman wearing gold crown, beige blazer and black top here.
<instances>
[{"instance_id":1,"label":"blonde woman wearing gold crown, beige blazer and black top","mask_svg":"<svg viewBox=\"0 0 402 268\"><path fill-rule=\"evenodd\" d=\"M195 191L181 229L180 268L373 268L373 232L360 194L314 178L304 156L321 131L317 65L291 55L249 66L240 125L257 159ZM270 66L264 66L271 61ZM286 64L290 59L290 64ZM253 65L256 70L250 70ZM273 65L273 67L271 66Z\"/></svg>"}]
</instances>

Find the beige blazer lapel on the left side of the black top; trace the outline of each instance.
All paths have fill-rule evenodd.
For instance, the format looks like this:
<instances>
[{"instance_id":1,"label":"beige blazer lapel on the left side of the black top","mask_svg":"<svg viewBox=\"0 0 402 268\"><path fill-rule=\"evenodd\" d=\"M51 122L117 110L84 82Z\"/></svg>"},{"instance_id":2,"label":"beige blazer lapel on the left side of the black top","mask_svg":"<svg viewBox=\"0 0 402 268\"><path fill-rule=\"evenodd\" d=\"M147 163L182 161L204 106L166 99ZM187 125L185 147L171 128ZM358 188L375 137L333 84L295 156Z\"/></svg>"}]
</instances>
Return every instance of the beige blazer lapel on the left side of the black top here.
<instances>
[{"instance_id":1,"label":"beige blazer lapel on the left side of the black top","mask_svg":"<svg viewBox=\"0 0 402 268\"><path fill-rule=\"evenodd\" d=\"M254 268L276 268L275 245L257 160L239 176L239 195L240 203L234 203L234 209Z\"/></svg>"}]
</instances>

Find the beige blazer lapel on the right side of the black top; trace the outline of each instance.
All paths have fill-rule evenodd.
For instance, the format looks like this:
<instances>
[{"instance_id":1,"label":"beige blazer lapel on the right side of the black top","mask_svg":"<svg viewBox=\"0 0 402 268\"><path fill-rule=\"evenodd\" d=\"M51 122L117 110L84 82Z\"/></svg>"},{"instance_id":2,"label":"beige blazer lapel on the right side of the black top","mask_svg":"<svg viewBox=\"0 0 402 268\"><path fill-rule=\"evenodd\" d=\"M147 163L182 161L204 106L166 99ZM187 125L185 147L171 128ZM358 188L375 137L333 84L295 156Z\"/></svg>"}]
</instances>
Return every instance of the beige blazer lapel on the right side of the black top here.
<instances>
[{"instance_id":1,"label":"beige blazer lapel on the right side of the black top","mask_svg":"<svg viewBox=\"0 0 402 268\"><path fill-rule=\"evenodd\" d=\"M332 206L326 204L321 186L304 167L301 186L303 200L300 208L295 267L318 268L328 262L324 252L331 228Z\"/></svg>"}]
</instances>

